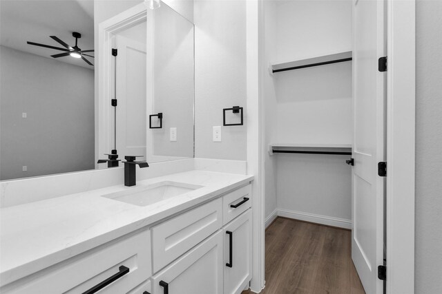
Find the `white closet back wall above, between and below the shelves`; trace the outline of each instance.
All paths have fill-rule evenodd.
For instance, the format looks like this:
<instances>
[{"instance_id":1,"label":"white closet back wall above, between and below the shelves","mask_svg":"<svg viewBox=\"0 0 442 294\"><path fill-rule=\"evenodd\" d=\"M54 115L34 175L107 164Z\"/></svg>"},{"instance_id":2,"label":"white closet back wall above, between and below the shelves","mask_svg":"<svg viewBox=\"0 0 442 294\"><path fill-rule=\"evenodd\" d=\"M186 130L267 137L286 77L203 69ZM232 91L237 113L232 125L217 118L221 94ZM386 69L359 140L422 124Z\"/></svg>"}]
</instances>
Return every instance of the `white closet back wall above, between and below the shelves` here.
<instances>
[{"instance_id":1,"label":"white closet back wall above, between and below the shelves","mask_svg":"<svg viewBox=\"0 0 442 294\"><path fill-rule=\"evenodd\" d=\"M269 1L265 9L271 64L352 50L351 1ZM352 63L275 73L271 79L265 76L265 83L267 143L352 143ZM348 227L348 158L267 157L266 217L273 211L276 191L278 210L292 217L301 213L338 219Z\"/></svg>"}]
</instances>

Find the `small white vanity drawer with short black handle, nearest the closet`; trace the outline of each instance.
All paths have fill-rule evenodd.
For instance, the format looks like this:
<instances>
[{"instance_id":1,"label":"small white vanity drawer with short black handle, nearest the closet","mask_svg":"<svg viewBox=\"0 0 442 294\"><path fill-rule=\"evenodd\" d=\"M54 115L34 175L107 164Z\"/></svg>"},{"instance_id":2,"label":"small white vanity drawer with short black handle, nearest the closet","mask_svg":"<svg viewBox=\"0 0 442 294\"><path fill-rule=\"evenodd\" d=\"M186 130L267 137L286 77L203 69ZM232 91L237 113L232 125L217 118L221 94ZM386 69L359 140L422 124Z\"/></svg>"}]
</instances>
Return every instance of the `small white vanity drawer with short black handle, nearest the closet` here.
<instances>
[{"instance_id":1,"label":"small white vanity drawer with short black handle, nearest the closet","mask_svg":"<svg viewBox=\"0 0 442 294\"><path fill-rule=\"evenodd\" d=\"M222 224L227 224L233 218L251 207L251 185L244 186L222 197Z\"/></svg>"}]
</instances>

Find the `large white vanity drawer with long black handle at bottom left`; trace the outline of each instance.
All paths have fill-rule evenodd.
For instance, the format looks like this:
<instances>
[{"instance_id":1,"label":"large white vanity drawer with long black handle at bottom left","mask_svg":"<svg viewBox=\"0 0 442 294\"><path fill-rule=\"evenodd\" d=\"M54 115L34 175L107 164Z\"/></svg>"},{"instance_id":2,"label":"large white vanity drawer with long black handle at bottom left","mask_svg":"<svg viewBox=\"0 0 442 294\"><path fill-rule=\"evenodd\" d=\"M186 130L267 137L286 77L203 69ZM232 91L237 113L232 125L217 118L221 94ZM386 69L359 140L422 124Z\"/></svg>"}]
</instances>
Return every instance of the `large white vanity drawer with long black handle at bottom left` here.
<instances>
[{"instance_id":1,"label":"large white vanity drawer with long black handle at bottom left","mask_svg":"<svg viewBox=\"0 0 442 294\"><path fill-rule=\"evenodd\" d=\"M55 265L47 273L37 273L29 282L2 288L2 293L85 293L117 273L121 276L99 293L128 293L151 276L150 244L150 232L143 231L67 264Z\"/></svg>"}]
</instances>

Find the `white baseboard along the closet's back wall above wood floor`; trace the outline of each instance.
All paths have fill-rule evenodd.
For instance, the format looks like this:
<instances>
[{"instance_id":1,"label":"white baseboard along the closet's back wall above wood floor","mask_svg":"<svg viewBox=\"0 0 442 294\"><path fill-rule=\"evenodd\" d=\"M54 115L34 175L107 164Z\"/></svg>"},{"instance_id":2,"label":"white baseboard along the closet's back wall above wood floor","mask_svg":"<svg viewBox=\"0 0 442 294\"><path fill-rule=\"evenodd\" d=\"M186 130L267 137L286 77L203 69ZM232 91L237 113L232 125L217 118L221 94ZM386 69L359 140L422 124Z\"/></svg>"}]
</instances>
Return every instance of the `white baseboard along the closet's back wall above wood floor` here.
<instances>
[{"instance_id":1,"label":"white baseboard along the closet's back wall above wood floor","mask_svg":"<svg viewBox=\"0 0 442 294\"><path fill-rule=\"evenodd\" d=\"M319 214L292 211L287 209L278 209L278 216L282 216L284 218L293 218L294 220L304 220L305 222L314 222L315 224L325 224L327 226L343 229L352 229L352 220L346 220L344 218L321 216Z\"/></svg>"}]
</instances>

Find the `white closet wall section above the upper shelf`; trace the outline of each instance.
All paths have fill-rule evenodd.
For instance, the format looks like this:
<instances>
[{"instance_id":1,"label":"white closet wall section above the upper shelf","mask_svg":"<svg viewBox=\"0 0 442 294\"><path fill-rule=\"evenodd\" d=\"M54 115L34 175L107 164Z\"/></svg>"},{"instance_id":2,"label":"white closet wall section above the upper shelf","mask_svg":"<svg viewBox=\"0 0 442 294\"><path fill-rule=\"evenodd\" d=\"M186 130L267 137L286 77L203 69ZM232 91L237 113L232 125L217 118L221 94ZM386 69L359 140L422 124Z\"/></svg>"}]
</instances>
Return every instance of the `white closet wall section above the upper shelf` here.
<instances>
[{"instance_id":1,"label":"white closet wall section above the upper shelf","mask_svg":"<svg viewBox=\"0 0 442 294\"><path fill-rule=\"evenodd\" d=\"M273 63L352 50L351 1L280 0Z\"/></svg>"}]
</instances>

